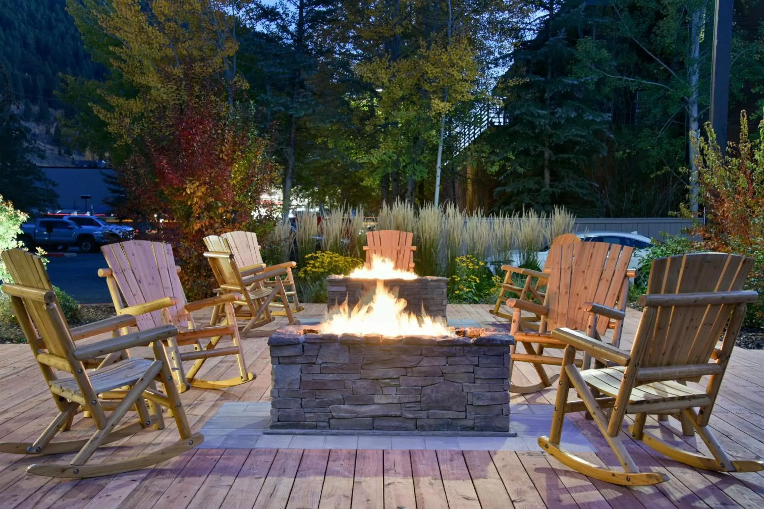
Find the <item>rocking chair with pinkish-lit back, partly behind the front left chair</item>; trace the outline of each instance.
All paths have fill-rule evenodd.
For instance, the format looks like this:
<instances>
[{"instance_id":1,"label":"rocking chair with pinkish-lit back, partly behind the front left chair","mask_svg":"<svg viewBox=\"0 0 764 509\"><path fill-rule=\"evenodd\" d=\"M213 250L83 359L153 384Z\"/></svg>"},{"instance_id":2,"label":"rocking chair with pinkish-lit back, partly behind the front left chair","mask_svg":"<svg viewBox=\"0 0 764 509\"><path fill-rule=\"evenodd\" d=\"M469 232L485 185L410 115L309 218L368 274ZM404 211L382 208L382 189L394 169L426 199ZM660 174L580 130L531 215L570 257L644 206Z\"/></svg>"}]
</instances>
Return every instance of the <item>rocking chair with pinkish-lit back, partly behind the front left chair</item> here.
<instances>
[{"instance_id":1,"label":"rocking chair with pinkish-lit back, partly behind the front left chair","mask_svg":"<svg viewBox=\"0 0 764 509\"><path fill-rule=\"evenodd\" d=\"M226 388L254 379L247 371L244 350L231 302L234 294L218 295L195 302L186 302L186 294L180 285L180 267L175 265L173 248L170 244L129 240L108 244L101 248L108 269L99 269L99 275L106 278L108 291L117 314L134 314L138 330L150 330L162 324L173 324L178 328L175 340L170 340L170 359L180 391L189 387ZM167 298L173 298L168 305ZM128 308L123 305L125 302ZM134 311L141 306L142 312ZM215 321L209 327L196 327L192 311L204 308L223 308L225 318L222 323ZM231 338L231 346L217 347L222 337ZM209 338L206 344L203 339ZM193 350L180 350L180 346L193 345ZM203 380L196 377L207 359L220 356L236 356L239 375L226 380ZM185 371L184 361L193 360L193 366Z\"/></svg>"}]
</instances>

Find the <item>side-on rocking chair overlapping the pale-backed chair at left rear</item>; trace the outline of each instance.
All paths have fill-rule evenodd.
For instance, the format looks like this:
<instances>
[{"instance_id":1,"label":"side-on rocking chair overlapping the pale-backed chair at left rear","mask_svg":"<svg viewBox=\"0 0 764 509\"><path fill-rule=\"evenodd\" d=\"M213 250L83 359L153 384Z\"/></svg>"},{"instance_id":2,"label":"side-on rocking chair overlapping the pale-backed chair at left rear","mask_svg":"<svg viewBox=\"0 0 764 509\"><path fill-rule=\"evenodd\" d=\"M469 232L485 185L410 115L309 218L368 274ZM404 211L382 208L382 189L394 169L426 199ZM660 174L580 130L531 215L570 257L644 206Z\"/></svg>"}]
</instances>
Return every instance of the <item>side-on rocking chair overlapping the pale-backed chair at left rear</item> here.
<instances>
[{"instance_id":1,"label":"side-on rocking chair overlapping the pale-backed chair at left rear","mask_svg":"<svg viewBox=\"0 0 764 509\"><path fill-rule=\"evenodd\" d=\"M204 240L207 245L228 244L225 239L215 235L205 237ZM230 251L208 251L204 253L204 256L207 257L212 273L215 274L220 295L235 295L234 300L231 301L235 316L250 318L241 330L242 333L270 324L275 320L270 312L270 303L274 298L279 296L282 302L288 302L281 279L281 276L286 274L286 268L264 270L261 266L255 266L250 271L240 271ZM266 282L274 284L269 286L265 284ZM299 324L299 321L295 321L290 306L285 306L283 310L290 324ZM261 334L270 332L272 331L263 330Z\"/></svg>"}]
</instances>

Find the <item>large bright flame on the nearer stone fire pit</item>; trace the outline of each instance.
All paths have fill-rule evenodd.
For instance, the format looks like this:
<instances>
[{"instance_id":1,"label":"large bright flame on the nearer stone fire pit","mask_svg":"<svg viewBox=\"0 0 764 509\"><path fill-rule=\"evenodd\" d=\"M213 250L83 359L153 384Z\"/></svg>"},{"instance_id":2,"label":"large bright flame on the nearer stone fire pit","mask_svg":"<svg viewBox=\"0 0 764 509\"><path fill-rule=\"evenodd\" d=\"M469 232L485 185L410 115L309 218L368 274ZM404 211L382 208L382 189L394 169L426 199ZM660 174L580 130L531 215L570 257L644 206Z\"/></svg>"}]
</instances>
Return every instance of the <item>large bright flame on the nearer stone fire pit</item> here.
<instances>
[{"instance_id":1,"label":"large bright flame on the nearer stone fire pit","mask_svg":"<svg viewBox=\"0 0 764 509\"><path fill-rule=\"evenodd\" d=\"M454 336L442 319L406 313L406 301L396 298L377 280L377 289L368 304L348 309L348 303L332 309L318 325L322 334L380 334L382 336Z\"/></svg>"}]
</instances>

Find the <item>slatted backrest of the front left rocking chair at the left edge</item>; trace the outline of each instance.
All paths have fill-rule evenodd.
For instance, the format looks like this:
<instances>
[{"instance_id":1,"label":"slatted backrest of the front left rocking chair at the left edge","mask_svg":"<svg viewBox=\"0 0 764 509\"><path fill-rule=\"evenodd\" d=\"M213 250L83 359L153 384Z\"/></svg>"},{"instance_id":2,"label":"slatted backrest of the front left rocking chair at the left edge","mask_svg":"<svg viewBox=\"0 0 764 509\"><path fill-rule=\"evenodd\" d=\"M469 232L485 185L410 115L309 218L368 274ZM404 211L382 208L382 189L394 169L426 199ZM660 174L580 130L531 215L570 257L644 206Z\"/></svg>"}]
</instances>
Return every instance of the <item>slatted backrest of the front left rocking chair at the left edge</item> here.
<instances>
[{"instance_id":1,"label":"slatted backrest of the front left rocking chair at the left edge","mask_svg":"<svg viewBox=\"0 0 764 509\"><path fill-rule=\"evenodd\" d=\"M53 290L45 266L37 256L24 250L15 249L4 251L2 259L15 285L37 290ZM36 301L31 298L21 298L21 301L24 303L24 309L34 327L37 328L37 333L42 338L48 352L66 359L67 354L74 350L74 341L68 332L68 325L66 330L60 330L59 327L56 327L48 314L47 304L43 301ZM58 299L56 299L55 304L61 321L66 324L66 318L61 313ZM34 340L34 338L30 338L30 340Z\"/></svg>"}]
</instances>

